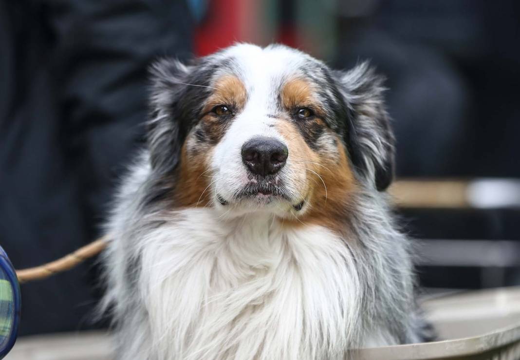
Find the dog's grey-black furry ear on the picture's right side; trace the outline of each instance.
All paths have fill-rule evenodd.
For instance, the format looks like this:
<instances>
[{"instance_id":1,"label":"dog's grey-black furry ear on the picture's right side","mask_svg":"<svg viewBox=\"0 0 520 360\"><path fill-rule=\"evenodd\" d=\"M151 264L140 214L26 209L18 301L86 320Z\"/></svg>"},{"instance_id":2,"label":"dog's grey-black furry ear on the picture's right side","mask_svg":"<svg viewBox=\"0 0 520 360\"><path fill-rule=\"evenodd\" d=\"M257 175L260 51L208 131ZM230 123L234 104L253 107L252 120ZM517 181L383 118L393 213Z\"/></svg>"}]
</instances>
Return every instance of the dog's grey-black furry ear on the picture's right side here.
<instances>
[{"instance_id":1,"label":"dog's grey-black furry ear on the picture's right side","mask_svg":"<svg viewBox=\"0 0 520 360\"><path fill-rule=\"evenodd\" d=\"M385 190L394 178L394 135L383 100L384 78L363 62L338 72L349 116L345 143L350 159L362 176Z\"/></svg>"}]
</instances>

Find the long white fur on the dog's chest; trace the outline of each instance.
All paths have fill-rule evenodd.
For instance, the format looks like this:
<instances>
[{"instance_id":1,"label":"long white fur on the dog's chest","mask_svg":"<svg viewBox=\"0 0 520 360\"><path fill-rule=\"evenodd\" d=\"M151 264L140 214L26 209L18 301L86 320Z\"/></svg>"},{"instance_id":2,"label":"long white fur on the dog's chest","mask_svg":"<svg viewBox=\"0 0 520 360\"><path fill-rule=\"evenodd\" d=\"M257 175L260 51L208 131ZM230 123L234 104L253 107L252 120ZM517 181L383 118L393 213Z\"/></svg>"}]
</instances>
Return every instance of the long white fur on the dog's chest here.
<instances>
[{"instance_id":1,"label":"long white fur on the dog's chest","mask_svg":"<svg viewBox=\"0 0 520 360\"><path fill-rule=\"evenodd\" d=\"M158 358L334 358L359 337L352 255L328 229L203 209L174 218L141 254Z\"/></svg>"}]
</instances>

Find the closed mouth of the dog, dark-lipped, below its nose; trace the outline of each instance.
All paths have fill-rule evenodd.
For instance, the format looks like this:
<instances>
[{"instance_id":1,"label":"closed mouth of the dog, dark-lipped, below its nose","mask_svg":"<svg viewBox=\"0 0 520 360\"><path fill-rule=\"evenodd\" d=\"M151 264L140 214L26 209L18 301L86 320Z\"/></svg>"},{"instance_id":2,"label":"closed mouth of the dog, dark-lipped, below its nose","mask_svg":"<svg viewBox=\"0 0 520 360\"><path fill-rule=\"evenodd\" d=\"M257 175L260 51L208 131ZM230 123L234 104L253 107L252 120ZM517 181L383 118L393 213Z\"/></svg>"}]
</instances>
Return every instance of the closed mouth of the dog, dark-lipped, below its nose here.
<instances>
[{"instance_id":1,"label":"closed mouth of the dog, dark-lipped, below its nose","mask_svg":"<svg viewBox=\"0 0 520 360\"><path fill-rule=\"evenodd\" d=\"M283 187L272 183L248 183L238 192L232 199L227 200L222 195L217 194L217 200L221 205L228 205L230 202L236 202L244 199L256 200L258 204L269 204L276 199L287 200L292 203L292 207L296 211L302 210L305 200L293 204L294 199L291 198L289 192Z\"/></svg>"}]
</instances>

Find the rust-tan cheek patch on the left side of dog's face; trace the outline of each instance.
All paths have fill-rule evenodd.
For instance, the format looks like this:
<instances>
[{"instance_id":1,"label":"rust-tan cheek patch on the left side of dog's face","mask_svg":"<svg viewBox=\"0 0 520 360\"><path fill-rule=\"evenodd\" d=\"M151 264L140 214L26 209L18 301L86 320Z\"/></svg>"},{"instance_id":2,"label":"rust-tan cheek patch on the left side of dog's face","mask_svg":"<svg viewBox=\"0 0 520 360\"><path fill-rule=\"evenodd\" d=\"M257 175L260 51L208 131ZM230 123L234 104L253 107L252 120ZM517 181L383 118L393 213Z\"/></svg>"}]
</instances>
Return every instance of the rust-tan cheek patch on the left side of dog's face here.
<instances>
[{"instance_id":1,"label":"rust-tan cheek patch on the left side of dog's face","mask_svg":"<svg viewBox=\"0 0 520 360\"><path fill-rule=\"evenodd\" d=\"M211 151L188 151L186 143L181 149L180 169L175 184L174 203L176 208L207 207L211 199L210 172L207 170ZM207 176L204 176L207 175Z\"/></svg>"}]
</instances>

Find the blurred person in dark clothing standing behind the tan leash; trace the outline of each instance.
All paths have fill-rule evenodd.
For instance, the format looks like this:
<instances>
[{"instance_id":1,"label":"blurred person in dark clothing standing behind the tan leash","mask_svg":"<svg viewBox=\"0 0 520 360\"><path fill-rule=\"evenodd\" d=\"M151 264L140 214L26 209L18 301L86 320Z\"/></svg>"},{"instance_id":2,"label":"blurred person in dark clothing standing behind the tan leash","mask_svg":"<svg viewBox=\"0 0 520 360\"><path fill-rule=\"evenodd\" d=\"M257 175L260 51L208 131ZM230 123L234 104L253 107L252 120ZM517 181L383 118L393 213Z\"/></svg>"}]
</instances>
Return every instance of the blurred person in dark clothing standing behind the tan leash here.
<instances>
[{"instance_id":1,"label":"blurred person in dark clothing standing behind the tan leash","mask_svg":"<svg viewBox=\"0 0 520 360\"><path fill-rule=\"evenodd\" d=\"M0 244L16 268L100 233L141 141L147 67L186 58L182 1L0 3ZM22 285L20 335L97 327L93 263Z\"/></svg>"}]
</instances>

